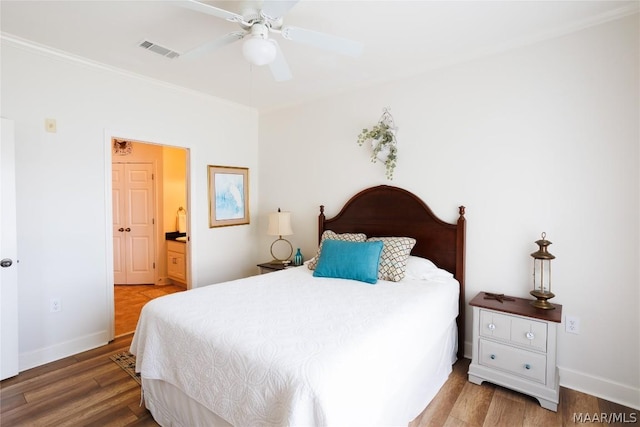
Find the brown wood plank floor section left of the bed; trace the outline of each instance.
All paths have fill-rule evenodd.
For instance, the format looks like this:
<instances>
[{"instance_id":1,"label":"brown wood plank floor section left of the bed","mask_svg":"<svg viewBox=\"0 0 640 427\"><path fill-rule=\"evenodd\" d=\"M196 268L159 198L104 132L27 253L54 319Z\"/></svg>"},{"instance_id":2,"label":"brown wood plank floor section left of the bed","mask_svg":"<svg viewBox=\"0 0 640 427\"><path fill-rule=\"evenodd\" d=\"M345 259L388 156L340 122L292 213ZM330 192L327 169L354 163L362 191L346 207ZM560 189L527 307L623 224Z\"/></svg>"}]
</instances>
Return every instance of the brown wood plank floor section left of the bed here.
<instances>
[{"instance_id":1,"label":"brown wood plank floor section left of the bed","mask_svg":"<svg viewBox=\"0 0 640 427\"><path fill-rule=\"evenodd\" d=\"M39 366L0 383L0 425L157 426L140 407L140 386L109 356L132 335Z\"/></svg>"}]
</instances>

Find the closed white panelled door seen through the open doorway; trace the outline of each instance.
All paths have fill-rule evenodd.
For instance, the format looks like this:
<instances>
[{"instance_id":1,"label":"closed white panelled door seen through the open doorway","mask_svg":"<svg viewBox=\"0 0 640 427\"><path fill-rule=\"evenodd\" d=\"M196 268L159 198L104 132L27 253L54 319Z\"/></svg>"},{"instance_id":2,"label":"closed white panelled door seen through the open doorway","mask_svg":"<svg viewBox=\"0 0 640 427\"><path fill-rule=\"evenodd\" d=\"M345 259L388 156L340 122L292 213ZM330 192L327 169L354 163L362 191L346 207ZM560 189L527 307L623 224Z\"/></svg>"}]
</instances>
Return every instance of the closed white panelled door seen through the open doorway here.
<instances>
[{"instance_id":1,"label":"closed white panelled door seen through the open doorway","mask_svg":"<svg viewBox=\"0 0 640 427\"><path fill-rule=\"evenodd\" d=\"M153 165L113 164L112 176L114 281L155 283Z\"/></svg>"}]
</instances>

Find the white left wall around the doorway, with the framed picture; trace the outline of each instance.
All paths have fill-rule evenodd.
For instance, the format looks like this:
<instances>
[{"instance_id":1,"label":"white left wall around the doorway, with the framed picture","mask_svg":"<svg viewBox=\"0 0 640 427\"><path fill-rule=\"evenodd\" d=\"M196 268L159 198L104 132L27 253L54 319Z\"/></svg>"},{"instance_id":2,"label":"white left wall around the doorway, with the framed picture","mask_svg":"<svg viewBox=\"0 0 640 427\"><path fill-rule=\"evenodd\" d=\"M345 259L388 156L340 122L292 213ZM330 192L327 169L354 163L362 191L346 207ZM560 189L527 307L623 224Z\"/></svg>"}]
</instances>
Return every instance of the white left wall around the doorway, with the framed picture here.
<instances>
[{"instance_id":1,"label":"white left wall around the doorway, with the framed picture","mask_svg":"<svg viewBox=\"0 0 640 427\"><path fill-rule=\"evenodd\" d=\"M108 339L109 135L190 149L194 287L255 271L255 218L210 229L207 217L208 164L257 174L253 109L8 40L1 71L2 116L16 125L20 370ZM44 132L45 118L57 133ZM62 311L49 312L52 297Z\"/></svg>"}]
</instances>

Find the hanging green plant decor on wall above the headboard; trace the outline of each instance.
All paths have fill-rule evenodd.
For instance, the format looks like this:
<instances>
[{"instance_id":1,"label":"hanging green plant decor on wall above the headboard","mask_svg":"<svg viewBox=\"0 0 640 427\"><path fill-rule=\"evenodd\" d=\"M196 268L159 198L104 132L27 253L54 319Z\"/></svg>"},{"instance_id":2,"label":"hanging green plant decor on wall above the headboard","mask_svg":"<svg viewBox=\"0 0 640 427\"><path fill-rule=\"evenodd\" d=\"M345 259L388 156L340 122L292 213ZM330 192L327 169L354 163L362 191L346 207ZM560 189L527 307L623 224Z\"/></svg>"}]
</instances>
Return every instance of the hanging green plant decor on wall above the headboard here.
<instances>
[{"instance_id":1,"label":"hanging green plant decor on wall above the headboard","mask_svg":"<svg viewBox=\"0 0 640 427\"><path fill-rule=\"evenodd\" d=\"M371 144L371 162L380 160L386 168L387 179L393 179L393 170L396 167L398 142L396 141L396 128L389 109L383 110L378 123L371 129L362 129L358 135L358 145Z\"/></svg>"}]
</instances>

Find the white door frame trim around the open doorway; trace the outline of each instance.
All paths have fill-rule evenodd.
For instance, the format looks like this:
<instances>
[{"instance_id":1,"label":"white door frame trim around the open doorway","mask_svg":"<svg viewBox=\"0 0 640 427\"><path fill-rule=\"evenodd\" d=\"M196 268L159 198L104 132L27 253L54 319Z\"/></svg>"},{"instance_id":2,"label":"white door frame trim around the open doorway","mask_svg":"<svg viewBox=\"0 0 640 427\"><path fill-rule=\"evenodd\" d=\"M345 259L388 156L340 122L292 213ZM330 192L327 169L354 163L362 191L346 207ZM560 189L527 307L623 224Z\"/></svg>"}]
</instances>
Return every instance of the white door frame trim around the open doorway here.
<instances>
[{"instance_id":1,"label":"white door frame trim around the open doorway","mask_svg":"<svg viewBox=\"0 0 640 427\"><path fill-rule=\"evenodd\" d=\"M187 235L189 236L189 244L187 245L187 289L191 289L192 283L195 282L195 275L192 269L193 265L193 232L191 224L195 221L195 215L193 214L192 209L192 197L191 194L194 192L194 188L192 188L192 179L191 179L191 153L193 148L191 146L181 145L181 144L170 144L162 141L163 138L158 137L157 135L139 135L138 132L134 131L117 131L113 129L105 129L104 131L104 170L105 170L105 286L106 286L106 313L107 313L107 337L109 341L113 341L115 338L115 290L114 290L114 272L113 272L113 194L112 194L112 171L111 171L111 163L112 163L112 139L127 139L132 140L144 144L149 145L158 145L158 146L169 146L176 148L183 148L187 151L186 156L186 188L187 188ZM158 188L158 184L155 185L156 191ZM157 195L156 195L157 196ZM156 206L155 210L158 210L158 203L156 197ZM158 215L156 214L156 218ZM160 224L156 224L158 227ZM159 244L156 244L156 247L160 247ZM160 256L160 254L158 254ZM157 275L156 275L157 280Z\"/></svg>"}]
</instances>

